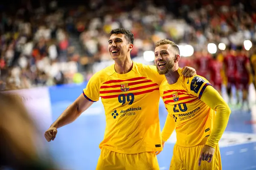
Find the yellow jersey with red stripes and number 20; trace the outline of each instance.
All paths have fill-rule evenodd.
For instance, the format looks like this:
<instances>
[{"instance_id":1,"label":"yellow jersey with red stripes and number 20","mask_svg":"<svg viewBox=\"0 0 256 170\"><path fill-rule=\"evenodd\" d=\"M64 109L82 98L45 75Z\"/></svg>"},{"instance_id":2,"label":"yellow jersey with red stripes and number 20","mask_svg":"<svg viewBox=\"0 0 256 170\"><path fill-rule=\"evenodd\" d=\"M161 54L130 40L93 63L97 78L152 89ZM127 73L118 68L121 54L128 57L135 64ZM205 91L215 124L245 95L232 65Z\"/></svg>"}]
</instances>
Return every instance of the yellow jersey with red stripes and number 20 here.
<instances>
[{"instance_id":1,"label":"yellow jersey with red stripes and number 20","mask_svg":"<svg viewBox=\"0 0 256 170\"><path fill-rule=\"evenodd\" d=\"M210 83L198 75L185 78L180 68L178 72L180 77L175 84L169 85L164 80L160 85L161 98L175 121L176 144L182 147L204 144L212 131L215 112L200 98Z\"/></svg>"}]
</instances>

